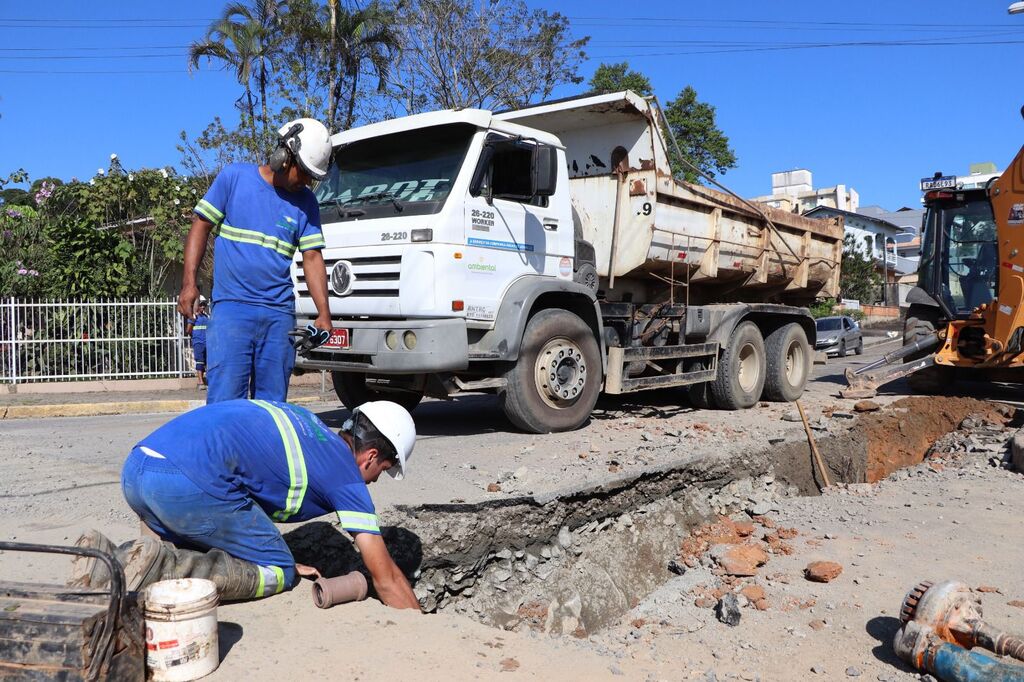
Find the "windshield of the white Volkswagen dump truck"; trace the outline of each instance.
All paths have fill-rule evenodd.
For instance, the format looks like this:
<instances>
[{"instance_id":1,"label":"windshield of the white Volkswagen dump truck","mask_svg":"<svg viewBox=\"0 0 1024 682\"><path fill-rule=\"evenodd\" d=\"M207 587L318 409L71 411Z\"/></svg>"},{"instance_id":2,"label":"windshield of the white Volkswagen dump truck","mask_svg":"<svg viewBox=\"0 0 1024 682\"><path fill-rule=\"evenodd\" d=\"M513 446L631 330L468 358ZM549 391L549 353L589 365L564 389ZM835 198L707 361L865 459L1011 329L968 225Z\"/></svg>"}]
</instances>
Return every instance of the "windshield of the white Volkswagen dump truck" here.
<instances>
[{"instance_id":1,"label":"windshield of the white Volkswagen dump truck","mask_svg":"<svg viewBox=\"0 0 1024 682\"><path fill-rule=\"evenodd\" d=\"M475 132L467 124L408 130L362 139L335 151L316 185L326 220L437 213Z\"/></svg>"}]
</instances>

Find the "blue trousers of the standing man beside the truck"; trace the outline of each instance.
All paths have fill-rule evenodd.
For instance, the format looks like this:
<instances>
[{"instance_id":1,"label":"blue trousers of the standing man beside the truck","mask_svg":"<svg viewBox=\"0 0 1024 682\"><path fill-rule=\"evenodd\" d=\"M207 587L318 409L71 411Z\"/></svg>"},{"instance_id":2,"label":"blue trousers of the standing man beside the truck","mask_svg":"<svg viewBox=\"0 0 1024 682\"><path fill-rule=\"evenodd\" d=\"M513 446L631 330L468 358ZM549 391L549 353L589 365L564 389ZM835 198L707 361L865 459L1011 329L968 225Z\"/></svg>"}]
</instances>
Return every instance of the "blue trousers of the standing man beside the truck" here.
<instances>
[{"instance_id":1,"label":"blue trousers of the standing man beside the truck","mask_svg":"<svg viewBox=\"0 0 1024 682\"><path fill-rule=\"evenodd\" d=\"M247 397L287 400L295 366L288 333L294 327L294 312L217 303L207 328L207 404Z\"/></svg>"}]
</instances>

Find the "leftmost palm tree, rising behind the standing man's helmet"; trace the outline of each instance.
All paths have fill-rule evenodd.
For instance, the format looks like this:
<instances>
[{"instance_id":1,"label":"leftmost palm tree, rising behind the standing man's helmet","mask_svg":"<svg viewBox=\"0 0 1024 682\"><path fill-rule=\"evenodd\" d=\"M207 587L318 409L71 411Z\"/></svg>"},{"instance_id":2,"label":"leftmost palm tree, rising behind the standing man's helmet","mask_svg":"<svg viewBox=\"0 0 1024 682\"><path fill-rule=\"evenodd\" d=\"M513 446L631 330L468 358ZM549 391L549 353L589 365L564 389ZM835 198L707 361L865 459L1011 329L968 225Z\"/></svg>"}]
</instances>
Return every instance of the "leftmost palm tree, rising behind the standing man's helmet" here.
<instances>
[{"instance_id":1,"label":"leftmost palm tree, rising behind the standing man's helmet","mask_svg":"<svg viewBox=\"0 0 1024 682\"><path fill-rule=\"evenodd\" d=\"M273 60L280 54L284 37L280 30L283 0L252 0L252 6L233 2L224 8L206 37L188 48L188 70L199 68L202 57L218 59L225 69L233 69L245 88L243 97L249 114L249 129L255 150L262 144L256 133L256 108L252 80L255 75L263 123L263 137L269 139L270 125L266 112L266 85Z\"/></svg>"}]
</instances>

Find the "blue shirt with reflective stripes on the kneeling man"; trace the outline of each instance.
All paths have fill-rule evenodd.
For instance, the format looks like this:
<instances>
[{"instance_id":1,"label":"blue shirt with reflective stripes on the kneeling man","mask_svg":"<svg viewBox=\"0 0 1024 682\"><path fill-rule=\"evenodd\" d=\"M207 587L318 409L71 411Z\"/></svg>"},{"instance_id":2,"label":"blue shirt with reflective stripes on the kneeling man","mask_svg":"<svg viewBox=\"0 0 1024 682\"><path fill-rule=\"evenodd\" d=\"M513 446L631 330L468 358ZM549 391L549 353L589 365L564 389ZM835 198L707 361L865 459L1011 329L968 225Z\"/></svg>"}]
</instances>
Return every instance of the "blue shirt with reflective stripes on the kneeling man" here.
<instances>
[{"instance_id":1,"label":"blue shirt with reflective stripes on the kneeling man","mask_svg":"<svg viewBox=\"0 0 1024 682\"><path fill-rule=\"evenodd\" d=\"M251 499L275 521L332 512L349 532L380 535L352 452L308 410L225 400L177 417L138 442L215 498Z\"/></svg>"}]
</instances>

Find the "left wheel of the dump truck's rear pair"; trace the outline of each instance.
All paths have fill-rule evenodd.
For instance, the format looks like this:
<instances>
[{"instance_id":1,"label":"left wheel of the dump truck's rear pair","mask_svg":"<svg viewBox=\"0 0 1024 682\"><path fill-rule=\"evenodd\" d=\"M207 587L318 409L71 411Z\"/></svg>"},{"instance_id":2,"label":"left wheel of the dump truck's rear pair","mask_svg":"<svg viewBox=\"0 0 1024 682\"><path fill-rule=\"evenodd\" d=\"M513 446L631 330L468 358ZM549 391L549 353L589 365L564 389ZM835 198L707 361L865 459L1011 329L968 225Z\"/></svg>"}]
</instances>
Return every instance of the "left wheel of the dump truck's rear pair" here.
<instances>
[{"instance_id":1,"label":"left wheel of the dump truck's rear pair","mask_svg":"<svg viewBox=\"0 0 1024 682\"><path fill-rule=\"evenodd\" d=\"M765 385L765 342L752 322L741 323L732 332L718 363L718 377L711 382L711 394L722 410L742 410L761 398Z\"/></svg>"}]
</instances>

